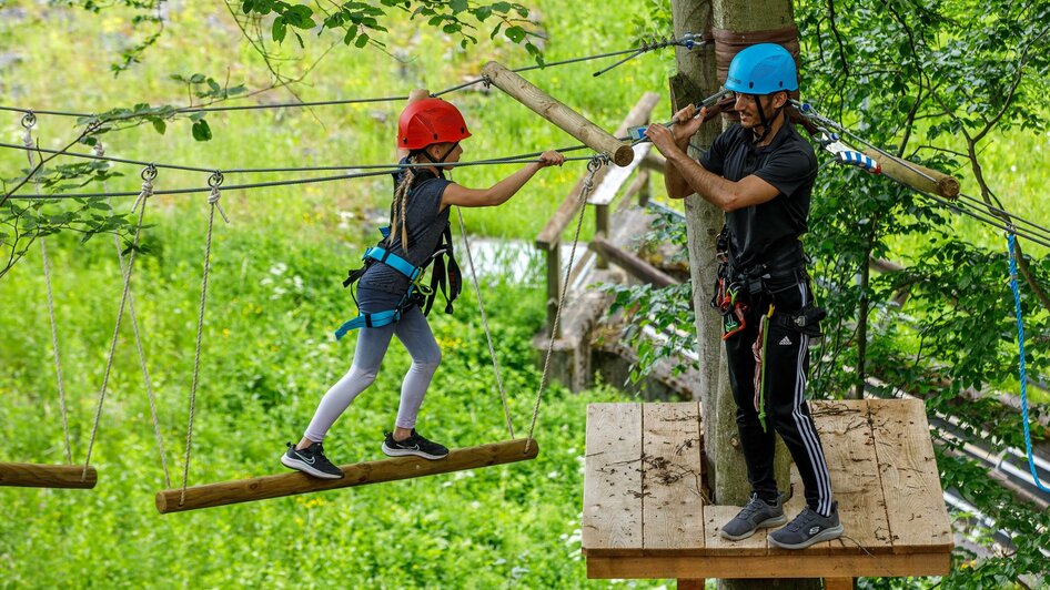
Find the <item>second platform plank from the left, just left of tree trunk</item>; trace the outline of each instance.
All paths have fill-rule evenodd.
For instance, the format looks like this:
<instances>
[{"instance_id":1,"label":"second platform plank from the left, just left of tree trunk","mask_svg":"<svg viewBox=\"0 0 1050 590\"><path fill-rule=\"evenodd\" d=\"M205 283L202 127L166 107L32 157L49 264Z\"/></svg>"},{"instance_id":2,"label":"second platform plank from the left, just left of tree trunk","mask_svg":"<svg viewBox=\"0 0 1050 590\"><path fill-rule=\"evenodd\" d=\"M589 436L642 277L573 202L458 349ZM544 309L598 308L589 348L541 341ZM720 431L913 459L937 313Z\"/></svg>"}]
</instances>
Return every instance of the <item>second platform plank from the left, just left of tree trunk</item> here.
<instances>
[{"instance_id":1,"label":"second platform plank from the left, just left of tree trunk","mask_svg":"<svg viewBox=\"0 0 1050 590\"><path fill-rule=\"evenodd\" d=\"M643 547L646 555L704 547L700 408L644 404Z\"/></svg>"}]
</instances>

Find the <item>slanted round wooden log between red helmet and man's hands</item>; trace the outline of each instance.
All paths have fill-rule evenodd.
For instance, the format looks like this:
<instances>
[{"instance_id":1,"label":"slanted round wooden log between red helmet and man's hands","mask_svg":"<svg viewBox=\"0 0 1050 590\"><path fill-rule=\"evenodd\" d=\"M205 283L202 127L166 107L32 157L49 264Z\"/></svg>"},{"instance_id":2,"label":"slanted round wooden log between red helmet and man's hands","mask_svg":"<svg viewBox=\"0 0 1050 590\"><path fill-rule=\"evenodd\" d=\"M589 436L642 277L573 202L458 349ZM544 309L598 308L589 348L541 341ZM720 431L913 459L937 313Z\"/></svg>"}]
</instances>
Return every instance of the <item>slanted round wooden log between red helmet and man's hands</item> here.
<instances>
[{"instance_id":1,"label":"slanted round wooden log between red helmet and man's hands","mask_svg":"<svg viewBox=\"0 0 1050 590\"><path fill-rule=\"evenodd\" d=\"M588 121L584 115L569 109L498 62L491 61L486 63L482 68L482 73L488 77L494 87L506 92L569 135L587 144L592 150L608 153L617 166L626 166L634 160L635 153L630 145L609 135L608 132Z\"/></svg>"}]
</instances>

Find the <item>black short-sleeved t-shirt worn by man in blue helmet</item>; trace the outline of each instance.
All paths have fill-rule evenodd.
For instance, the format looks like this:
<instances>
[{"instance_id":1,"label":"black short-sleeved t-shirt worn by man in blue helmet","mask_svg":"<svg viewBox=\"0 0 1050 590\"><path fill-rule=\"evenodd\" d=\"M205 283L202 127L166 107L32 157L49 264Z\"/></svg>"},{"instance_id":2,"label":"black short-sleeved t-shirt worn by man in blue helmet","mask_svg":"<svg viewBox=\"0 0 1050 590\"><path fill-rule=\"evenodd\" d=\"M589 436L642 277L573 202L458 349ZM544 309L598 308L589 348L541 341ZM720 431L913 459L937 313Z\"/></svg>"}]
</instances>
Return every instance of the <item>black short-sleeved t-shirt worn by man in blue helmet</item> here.
<instances>
[{"instance_id":1,"label":"black short-sleeved t-shirt worn by man in blue helmet","mask_svg":"<svg viewBox=\"0 0 1050 590\"><path fill-rule=\"evenodd\" d=\"M784 258L788 250L798 250L801 261L798 236L808 230L817 156L794 125L785 123L769 145L761 148L755 146L750 130L735 125L715 139L699 162L726 180L736 182L755 174L780 191L770 201L726 214L734 267L747 271Z\"/></svg>"}]
</instances>

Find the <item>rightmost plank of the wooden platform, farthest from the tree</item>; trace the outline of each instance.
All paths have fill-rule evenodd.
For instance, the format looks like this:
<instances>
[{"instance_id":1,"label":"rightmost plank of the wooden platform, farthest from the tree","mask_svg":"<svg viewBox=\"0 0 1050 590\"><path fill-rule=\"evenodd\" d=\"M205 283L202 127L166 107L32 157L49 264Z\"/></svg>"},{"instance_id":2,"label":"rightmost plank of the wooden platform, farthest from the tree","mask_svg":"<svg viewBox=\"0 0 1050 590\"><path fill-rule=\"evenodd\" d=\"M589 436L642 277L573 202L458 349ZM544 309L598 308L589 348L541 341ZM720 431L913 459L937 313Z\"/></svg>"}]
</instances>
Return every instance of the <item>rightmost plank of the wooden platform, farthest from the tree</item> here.
<instances>
[{"instance_id":1,"label":"rightmost plank of the wooden platform, farthest from the tree","mask_svg":"<svg viewBox=\"0 0 1050 590\"><path fill-rule=\"evenodd\" d=\"M950 552L948 510L919 399L868 403L895 553Z\"/></svg>"}]
</instances>

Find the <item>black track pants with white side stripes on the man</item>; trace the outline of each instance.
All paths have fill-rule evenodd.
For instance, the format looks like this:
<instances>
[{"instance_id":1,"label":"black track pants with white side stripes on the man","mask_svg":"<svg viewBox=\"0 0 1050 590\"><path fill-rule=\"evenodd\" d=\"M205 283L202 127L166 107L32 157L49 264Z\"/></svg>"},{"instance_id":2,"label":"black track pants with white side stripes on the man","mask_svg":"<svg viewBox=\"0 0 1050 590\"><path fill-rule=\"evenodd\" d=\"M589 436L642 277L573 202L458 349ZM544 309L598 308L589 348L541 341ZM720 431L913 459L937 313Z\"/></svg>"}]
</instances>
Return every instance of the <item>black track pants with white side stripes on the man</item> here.
<instances>
[{"instance_id":1,"label":"black track pants with white side stripes on the man","mask_svg":"<svg viewBox=\"0 0 1050 590\"><path fill-rule=\"evenodd\" d=\"M795 313L811 297L807 283L798 283L773 296L760 296L753 302L746 316L747 327L726 340L726 354L729 360L729 385L737 404L740 445L753 490L763 498L776 498L777 481L773 468L776 431L798 467L806 486L806 502L811 509L827 516L831 512L831 482L820 438L806 403L808 336L775 322L767 322L763 354L765 375L759 379L765 394L766 429L755 409L756 362L753 346L759 336L763 316L769 311L770 303L777 312Z\"/></svg>"}]
</instances>

